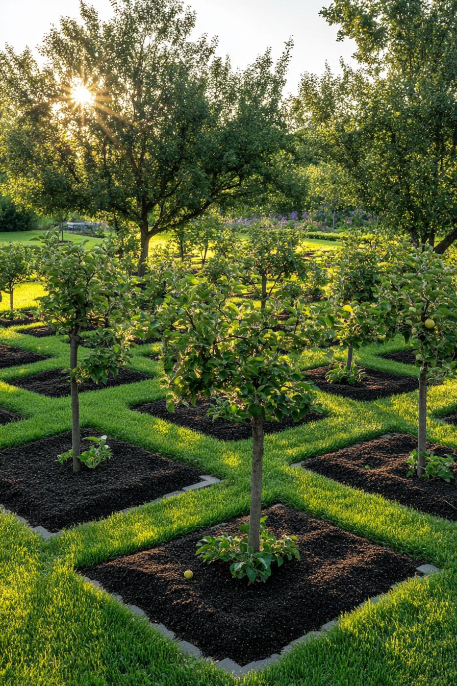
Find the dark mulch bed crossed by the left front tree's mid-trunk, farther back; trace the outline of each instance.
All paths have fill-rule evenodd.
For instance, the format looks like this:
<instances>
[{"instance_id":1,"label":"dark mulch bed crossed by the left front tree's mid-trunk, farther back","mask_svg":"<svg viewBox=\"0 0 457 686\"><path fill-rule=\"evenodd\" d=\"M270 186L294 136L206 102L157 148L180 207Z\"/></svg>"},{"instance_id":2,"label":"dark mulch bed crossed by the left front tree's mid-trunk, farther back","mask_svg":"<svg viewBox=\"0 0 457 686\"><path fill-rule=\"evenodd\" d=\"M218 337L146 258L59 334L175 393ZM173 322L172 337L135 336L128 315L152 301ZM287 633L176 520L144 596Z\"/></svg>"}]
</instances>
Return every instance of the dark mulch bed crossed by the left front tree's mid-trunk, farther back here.
<instances>
[{"instance_id":1,"label":"dark mulch bed crossed by the left front tree's mid-trunk, farther back","mask_svg":"<svg viewBox=\"0 0 457 686\"><path fill-rule=\"evenodd\" d=\"M134 383L135 381L144 381L149 377L141 372L135 372L132 369L122 367L119 369L119 374L114 377L112 374L108 376L108 383L95 383L94 381L84 381L79 384L79 392L84 393L88 390L103 390L103 388L112 388L113 386L123 386L124 383ZM50 369L40 374L34 374L30 377L23 377L21 379L13 379L8 381L12 386L25 388L25 390L32 390L35 393L41 393L51 398L62 398L70 395L70 382L59 369Z\"/></svg>"}]
</instances>

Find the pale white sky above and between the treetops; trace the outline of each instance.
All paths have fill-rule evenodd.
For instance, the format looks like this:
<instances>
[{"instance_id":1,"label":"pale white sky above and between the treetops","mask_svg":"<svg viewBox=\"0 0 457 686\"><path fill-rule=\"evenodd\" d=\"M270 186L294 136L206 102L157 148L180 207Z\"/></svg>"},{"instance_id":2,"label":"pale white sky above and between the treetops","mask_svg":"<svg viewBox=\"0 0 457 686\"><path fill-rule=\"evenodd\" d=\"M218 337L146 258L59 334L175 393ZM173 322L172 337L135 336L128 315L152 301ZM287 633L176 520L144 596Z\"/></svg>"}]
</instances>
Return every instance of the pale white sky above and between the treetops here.
<instances>
[{"instance_id":1,"label":"pale white sky above and between the treetops","mask_svg":"<svg viewBox=\"0 0 457 686\"><path fill-rule=\"evenodd\" d=\"M234 67L245 67L268 46L279 56L293 36L295 48L288 91L295 91L304 71L321 73L325 60L334 71L339 58L350 61L351 41L336 42L319 10L331 0L187 0L197 12L197 34L219 36L219 51L229 54ZM102 19L111 14L109 0L92 0ZM36 47L61 14L79 16L78 0L0 0L0 49Z\"/></svg>"}]
</instances>

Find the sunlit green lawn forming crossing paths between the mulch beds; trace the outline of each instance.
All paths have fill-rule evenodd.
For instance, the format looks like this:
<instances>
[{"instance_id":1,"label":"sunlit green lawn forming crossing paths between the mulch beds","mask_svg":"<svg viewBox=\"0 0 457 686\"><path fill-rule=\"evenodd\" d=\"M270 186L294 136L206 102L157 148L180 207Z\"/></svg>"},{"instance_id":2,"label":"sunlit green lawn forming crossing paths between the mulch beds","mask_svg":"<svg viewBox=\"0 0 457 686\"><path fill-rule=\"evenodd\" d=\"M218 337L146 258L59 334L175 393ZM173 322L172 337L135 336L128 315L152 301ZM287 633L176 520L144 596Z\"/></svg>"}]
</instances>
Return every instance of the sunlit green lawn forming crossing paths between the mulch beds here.
<instances>
[{"instance_id":1,"label":"sunlit green lawn forming crossing paths between the mulch beds","mask_svg":"<svg viewBox=\"0 0 457 686\"><path fill-rule=\"evenodd\" d=\"M0 342L51 355L23 368L0 370L0 405L24 417L0 426L0 448L68 430L69 399L46 398L10 383L18 375L68 366L67 344L58 337L27 336L27 327L0 329ZM402 341L396 339L366 348L358 359L371 367L417 376L414 367L380 359L381 353L399 348ZM82 394L83 425L198 466L223 482L71 528L49 542L1 514L2 686L457 683L456 524L289 466L386 432L414 434L417 393L373 403L320 393L328 418L267 436L264 504L282 501L443 571L408 580L379 604L345 615L328 635L297 646L265 672L237 682L214 665L195 661L107 593L75 575L79 565L145 549L249 509L249 440L221 442L129 409L163 395L160 363L146 357L151 349L136 348L131 366L149 372L152 379ZM313 351L303 356L303 363L317 366L327 359L323 351ZM456 407L457 381L430 388L432 440L457 446L457 427L434 419L436 413Z\"/></svg>"}]
</instances>

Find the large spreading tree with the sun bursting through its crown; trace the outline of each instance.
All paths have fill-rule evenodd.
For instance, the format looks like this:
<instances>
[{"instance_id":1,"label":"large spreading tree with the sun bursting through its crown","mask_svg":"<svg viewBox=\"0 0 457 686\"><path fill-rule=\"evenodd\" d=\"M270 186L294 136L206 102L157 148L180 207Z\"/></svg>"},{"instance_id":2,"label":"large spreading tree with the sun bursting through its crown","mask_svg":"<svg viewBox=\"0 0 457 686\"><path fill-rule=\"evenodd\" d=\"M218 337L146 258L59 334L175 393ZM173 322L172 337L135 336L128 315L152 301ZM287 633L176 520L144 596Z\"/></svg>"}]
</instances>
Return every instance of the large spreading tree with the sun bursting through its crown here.
<instances>
[{"instance_id":1,"label":"large spreading tree with the sun bursting through its crown","mask_svg":"<svg viewBox=\"0 0 457 686\"><path fill-rule=\"evenodd\" d=\"M291 44L233 71L180 0L113 0L102 22L82 2L82 24L51 29L38 63L0 55L8 96L1 157L14 196L47 213L108 211L138 226L140 271L149 239L214 202L251 195L284 137L280 112Z\"/></svg>"}]
</instances>

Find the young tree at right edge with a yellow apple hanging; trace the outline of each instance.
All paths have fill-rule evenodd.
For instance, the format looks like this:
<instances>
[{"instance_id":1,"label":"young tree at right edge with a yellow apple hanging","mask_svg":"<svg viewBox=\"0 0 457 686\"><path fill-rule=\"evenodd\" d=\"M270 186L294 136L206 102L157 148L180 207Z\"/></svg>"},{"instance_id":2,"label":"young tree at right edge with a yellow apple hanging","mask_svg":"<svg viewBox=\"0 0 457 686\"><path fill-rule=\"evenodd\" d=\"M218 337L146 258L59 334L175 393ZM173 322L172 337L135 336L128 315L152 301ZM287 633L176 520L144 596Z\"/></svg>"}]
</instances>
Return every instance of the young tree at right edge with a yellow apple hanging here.
<instances>
[{"instance_id":1,"label":"young tree at right edge with a yellow apple hanging","mask_svg":"<svg viewBox=\"0 0 457 686\"><path fill-rule=\"evenodd\" d=\"M382 295L391 307L397 331L410 341L419 366L417 475L425 473L427 451L427 387L429 381L456 375L457 295L455 270L431 246L410 250L382 278Z\"/></svg>"}]
</instances>

